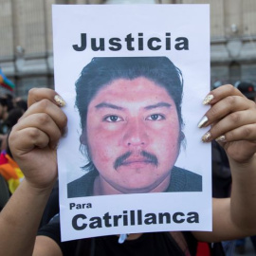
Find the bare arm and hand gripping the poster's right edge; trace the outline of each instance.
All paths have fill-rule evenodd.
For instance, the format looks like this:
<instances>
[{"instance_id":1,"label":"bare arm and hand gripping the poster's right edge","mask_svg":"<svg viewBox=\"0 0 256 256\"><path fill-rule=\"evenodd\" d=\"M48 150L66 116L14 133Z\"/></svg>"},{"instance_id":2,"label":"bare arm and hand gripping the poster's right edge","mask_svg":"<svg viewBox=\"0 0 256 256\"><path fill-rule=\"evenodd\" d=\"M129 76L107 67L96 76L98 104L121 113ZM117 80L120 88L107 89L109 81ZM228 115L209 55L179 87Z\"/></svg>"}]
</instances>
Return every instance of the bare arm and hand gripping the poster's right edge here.
<instances>
[{"instance_id":1,"label":"bare arm and hand gripping the poster's right edge","mask_svg":"<svg viewBox=\"0 0 256 256\"><path fill-rule=\"evenodd\" d=\"M213 199L212 232L193 232L200 241L216 242L256 233L256 108L231 85L221 86L210 95L208 120L210 137L219 140L228 157L232 174L230 198Z\"/></svg>"}]
</instances>

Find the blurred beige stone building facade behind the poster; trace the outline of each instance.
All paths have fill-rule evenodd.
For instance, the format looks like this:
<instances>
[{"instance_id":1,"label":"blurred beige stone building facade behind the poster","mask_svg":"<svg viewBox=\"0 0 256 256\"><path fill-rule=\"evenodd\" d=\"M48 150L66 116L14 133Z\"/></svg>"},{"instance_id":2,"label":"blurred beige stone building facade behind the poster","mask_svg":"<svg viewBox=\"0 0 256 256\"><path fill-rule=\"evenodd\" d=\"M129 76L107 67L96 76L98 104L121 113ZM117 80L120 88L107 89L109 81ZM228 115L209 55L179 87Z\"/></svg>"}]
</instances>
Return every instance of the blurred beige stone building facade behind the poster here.
<instances>
[{"instance_id":1,"label":"blurred beige stone building facade behind the poster","mask_svg":"<svg viewBox=\"0 0 256 256\"><path fill-rule=\"evenodd\" d=\"M210 4L211 85L256 84L255 0L1 0L0 67L15 95L53 87L52 4Z\"/></svg>"}]
</instances>

